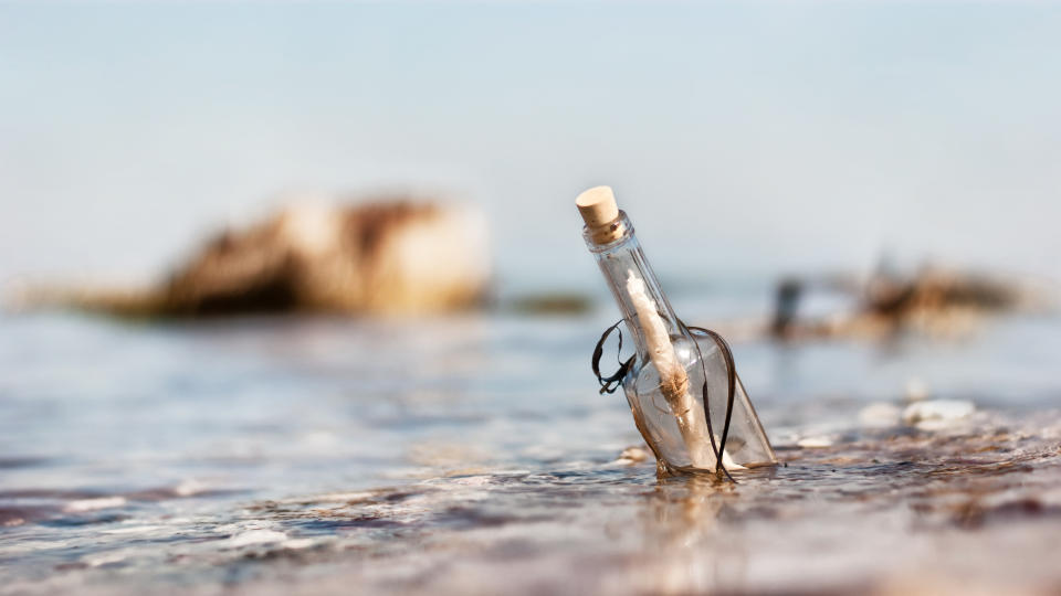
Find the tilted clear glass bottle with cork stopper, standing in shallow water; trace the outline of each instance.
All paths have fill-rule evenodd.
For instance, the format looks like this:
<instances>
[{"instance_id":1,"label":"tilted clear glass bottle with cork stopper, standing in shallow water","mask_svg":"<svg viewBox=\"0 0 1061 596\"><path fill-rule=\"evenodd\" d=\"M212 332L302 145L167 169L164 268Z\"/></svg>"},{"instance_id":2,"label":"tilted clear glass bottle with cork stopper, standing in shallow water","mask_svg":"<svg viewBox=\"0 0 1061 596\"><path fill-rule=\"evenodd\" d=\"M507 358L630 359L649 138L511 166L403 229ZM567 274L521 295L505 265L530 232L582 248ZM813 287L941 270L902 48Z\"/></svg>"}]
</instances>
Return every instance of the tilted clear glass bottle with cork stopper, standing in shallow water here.
<instances>
[{"instance_id":1,"label":"tilted clear glass bottle with cork stopper, standing in shallow water","mask_svg":"<svg viewBox=\"0 0 1061 596\"><path fill-rule=\"evenodd\" d=\"M586 222L586 245L633 337L637 352L622 386L634 424L655 454L660 473L715 471L715 449L722 439L729 389L723 350L708 333L690 330L674 315L610 188L590 189L578 196L576 204ZM734 374L734 380L723 466L734 470L774 465L777 458L755 408L739 377ZM708 434L708 415L715 448Z\"/></svg>"}]
</instances>

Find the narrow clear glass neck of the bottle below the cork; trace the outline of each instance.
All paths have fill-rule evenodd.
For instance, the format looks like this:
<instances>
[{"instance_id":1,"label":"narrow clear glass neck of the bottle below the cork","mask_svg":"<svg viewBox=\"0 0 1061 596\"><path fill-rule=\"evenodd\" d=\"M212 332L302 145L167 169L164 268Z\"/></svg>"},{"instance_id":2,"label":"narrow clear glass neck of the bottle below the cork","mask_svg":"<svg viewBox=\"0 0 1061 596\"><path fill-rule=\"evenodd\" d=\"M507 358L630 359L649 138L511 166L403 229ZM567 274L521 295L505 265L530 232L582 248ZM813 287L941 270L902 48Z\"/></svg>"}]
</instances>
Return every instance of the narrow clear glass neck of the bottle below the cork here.
<instances>
[{"instance_id":1,"label":"narrow clear glass neck of the bottle below the cork","mask_svg":"<svg viewBox=\"0 0 1061 596\"><path fill-rule=\"evenodd\" d=\"M633 233L633 226L627 214L620 211L617 223L619 227L616 228L616 233L611 238L606 238L603 244L600 243L599 234L595 235L588 230L584 231L582 236L597 258L597 265L605 274L608 288L622 311L627 329L633 336L638 359L643 362L648 354L648 344L644 327L638 316L638 307L640 306L643 310L648 305L645 299L654 306L668 334L682 336L684 331L674 315L674 309L671 308L670 301L660 288L655 273L644 258L641 244Z\"/></svg>"}]
</instances>

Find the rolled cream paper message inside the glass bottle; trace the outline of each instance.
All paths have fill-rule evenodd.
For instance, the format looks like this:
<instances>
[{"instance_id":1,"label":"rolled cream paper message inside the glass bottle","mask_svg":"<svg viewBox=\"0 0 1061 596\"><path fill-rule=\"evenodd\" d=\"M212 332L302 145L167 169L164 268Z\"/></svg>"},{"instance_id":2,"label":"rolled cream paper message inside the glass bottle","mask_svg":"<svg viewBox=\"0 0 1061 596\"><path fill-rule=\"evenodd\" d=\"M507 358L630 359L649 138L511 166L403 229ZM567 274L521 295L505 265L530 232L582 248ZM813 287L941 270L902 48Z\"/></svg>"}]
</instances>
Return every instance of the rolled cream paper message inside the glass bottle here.
<instances>
[{"instance_id":1,"label":"rolled cream paper message inside the glass bottle","mask_svg":"<svg viewBox=\"0 0 1061 596\"><path fill-rule=\"evenodd\" d=\"M689 375L674 352L674 344L671 343L671 336L655 301L649 297L644 280L632 269L627 270L627 292L640 319L649 358L660 374L660 392L676 418L690 462L695 468L714 469L715 454L711 448L711 437L707 436L706 412L690 393ZM725 451L722 461L727 469L743 468Z\"/></svg>"}]
</instances>

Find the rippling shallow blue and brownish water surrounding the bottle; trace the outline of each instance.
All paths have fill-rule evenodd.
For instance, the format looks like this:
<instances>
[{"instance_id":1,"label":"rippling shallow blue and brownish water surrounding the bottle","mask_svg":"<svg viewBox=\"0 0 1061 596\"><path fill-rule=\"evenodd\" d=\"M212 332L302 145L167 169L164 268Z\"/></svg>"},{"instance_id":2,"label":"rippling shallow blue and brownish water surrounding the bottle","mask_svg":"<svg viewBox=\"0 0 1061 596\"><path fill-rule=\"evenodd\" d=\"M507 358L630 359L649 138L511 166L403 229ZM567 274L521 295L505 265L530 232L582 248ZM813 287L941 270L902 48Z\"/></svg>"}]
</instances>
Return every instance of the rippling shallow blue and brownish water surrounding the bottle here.
<instances>
[{"instance_id":1,"label":"rippling shallow blue and brownish water surrounding the bottle","mask_svg":"<svg viewBox=\"0 0 1061 596\"><path fill-rule=\"evenodd\" d=\"M619 459L607 323L6 316L0 592L1061 589L1057 318L736 344L785 462L737 485ZM976 412L868 416L912 377Z\"/></svg>"}]
</instances>

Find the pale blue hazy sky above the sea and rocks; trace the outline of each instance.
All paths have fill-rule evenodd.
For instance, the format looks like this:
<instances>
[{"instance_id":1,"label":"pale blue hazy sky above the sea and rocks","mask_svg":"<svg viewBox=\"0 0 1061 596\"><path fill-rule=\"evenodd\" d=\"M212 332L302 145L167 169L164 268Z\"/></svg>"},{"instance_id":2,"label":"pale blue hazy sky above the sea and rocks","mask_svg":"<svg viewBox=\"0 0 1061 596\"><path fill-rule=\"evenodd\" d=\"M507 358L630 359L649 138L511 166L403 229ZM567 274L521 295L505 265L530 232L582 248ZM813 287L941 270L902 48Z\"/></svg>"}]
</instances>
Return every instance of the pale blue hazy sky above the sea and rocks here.
<instances>
[{"instance_id":1,"label":"pale blue hazy sky above the sea and rocks","mask_svg":"<svg viewBox=\"0 0 1061 596\"><path fill-rule=\"evenodd\" d=\"M599 285L616 189L698 279L1061 273L1061 4L0 4L0 281L157 277L301 196L482 205Z\"/></svg>"}]
</instances>

